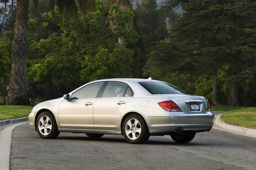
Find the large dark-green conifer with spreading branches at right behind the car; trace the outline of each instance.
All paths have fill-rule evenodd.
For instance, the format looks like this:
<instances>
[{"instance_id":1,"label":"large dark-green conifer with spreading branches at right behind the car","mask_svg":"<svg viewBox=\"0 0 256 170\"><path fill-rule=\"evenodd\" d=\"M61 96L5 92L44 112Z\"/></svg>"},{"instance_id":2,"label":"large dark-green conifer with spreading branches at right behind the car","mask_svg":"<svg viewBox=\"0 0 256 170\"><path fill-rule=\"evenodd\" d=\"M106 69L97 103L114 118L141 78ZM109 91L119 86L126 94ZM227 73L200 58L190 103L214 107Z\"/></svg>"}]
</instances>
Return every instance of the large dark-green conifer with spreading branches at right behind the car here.
<instances>
[{"instance_id":1,"label":"large dark-green conifer with spreading branches at right behind the car","mask_svg":"<svg viewBox=\"0 0 256 170\"><path fill-rule=\"evenodd\" d=\"M255 97L249 97L249 94L255 93L256 2L166 2L166 8L171 10L181 5L185 12L171 27L169 38L152 48L144 73L155 78L171 79L169 73L178 71L180 74L195 75L196 82L202 84L202 80L210 83L210 79L203 79L206 74L210 77L217 75L214 72L218 73L218 70L226 71L226 77L222 77L225 87L219 86L218 90L228 89L223 91L228 93L227 105L238 105L239 101L239 104L255 106ZM223 69L224 66L226 70ZM246 86L248 83L250 86ZM199 84L196 87L199 88ZM238 93L241 91L244 95ZM246 91L249 93L245 93ZM202 91L197 90L196 93L202 94ZM203 93L209 94L209 90Z\"/></svg>"}]
</instances>

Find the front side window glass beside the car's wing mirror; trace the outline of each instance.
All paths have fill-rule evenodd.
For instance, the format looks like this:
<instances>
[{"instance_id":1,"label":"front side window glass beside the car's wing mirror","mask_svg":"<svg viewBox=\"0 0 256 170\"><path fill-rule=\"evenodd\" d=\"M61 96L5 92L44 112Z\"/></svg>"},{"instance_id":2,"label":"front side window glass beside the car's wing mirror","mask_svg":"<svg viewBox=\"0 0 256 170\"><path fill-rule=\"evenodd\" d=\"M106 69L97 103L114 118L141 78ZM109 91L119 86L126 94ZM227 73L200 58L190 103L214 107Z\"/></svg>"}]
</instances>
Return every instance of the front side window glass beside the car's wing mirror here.
<instances>
[{"instance_id":1,"label":"front side window glass beside the car's wing mirror","mask_svg":"<svg viewBox=\"0 0 256 170\"><path fill-rule=\"evenodd\" d=\"M103 83L104 82L96 82L93 84L89 84L82 89L79 89L72 94L71 100L96 98L98 91L100 90Z\"/></svg>"}]
</instances>

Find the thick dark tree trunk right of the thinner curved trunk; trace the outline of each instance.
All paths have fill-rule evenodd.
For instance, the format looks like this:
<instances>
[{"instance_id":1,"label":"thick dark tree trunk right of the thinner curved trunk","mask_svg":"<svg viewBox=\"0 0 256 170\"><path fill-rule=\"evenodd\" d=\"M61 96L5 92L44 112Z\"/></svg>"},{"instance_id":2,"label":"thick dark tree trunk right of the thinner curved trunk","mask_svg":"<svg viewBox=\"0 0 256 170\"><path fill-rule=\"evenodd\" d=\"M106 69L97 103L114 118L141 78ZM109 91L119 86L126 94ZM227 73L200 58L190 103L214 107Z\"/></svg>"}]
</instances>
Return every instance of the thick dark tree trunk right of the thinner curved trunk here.
<instances>
[{"instance_id":1,"label":"thick dark tree trunk right of the thinner curved trunk","mask_svg":"<svg viewBox=\"0 0 256 170\"><path fill-rule=\"evenodd\" d=\"M230 63L230 78L237 73L236 63ZM238 106L238 83L235 80L231 80L229 83L229 95L227 106Z\"/></svg>"}]
</instances>

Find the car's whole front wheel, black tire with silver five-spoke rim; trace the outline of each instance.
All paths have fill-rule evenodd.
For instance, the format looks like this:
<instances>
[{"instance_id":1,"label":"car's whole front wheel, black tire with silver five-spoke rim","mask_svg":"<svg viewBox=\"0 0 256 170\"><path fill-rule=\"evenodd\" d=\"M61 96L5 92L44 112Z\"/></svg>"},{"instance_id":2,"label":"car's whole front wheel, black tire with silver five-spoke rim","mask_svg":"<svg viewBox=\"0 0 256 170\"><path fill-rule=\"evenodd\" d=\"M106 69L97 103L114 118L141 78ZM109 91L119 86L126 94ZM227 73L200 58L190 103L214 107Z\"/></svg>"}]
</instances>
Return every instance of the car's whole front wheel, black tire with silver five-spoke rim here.
<instances>
[{"instance_id":1,"label":"car's whole front wheel, black tire with silver five-spoke rim","mask_svg":"<svg viewBox=\"0 0 256 170\"><path fill-rule=\"evenodd\" d=\"M39 129L39 127L41 128ZM54 116L48 111L40 113L37 117L36 131L44 139L54 139L60 134Z\"/></svg>"}]
</instances>

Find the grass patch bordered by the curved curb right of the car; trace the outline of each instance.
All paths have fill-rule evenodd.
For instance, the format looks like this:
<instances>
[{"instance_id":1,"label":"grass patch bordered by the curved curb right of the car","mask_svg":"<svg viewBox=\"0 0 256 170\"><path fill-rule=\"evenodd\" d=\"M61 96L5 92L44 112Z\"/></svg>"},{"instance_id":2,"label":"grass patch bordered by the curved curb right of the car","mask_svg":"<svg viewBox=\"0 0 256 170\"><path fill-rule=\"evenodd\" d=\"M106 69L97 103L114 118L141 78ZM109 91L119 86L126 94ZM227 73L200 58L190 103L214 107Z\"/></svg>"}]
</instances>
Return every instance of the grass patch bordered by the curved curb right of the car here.
<instances>
[{"instance_id":1,"label":"grass patch bordered by the curved curb right of the car","mask_svg":"<svg viewBox=\"0 0 256 170\"><path fill-rule=\"evenodd\" d=\"M231 110L222 114L220 119L230 125L256 129L256 107Z\"/></svg>"}]
</instances>

